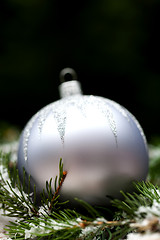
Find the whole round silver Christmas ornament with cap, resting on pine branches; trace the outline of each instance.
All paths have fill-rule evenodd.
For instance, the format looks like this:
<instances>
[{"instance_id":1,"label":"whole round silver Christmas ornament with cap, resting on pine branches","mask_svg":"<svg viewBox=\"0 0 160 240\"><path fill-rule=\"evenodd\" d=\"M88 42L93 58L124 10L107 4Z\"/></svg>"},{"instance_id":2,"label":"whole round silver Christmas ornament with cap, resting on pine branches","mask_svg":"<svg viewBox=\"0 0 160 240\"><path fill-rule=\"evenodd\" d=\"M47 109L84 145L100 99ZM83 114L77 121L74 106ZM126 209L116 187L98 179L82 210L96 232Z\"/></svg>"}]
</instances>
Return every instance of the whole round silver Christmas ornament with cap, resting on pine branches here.
<instances>
[{"instance_id":1,"label":"whole round silver Christmas ornament with cap, resting on pine branches","mask_svg":"<svg viewBox=\"0 0 160 240\"><path fill-rule=\"evenodd\" d=\"M143 130L135 117L118 103L81 93L76 80L63 82L61 100L35 114L24 128L18 151L18 169L31 175L32 186L45 188L46 180L58 175L60 158L67 177L61 198L83 199L105 205L106 196L118 197L133 180L145 180L148 149Z\"/></svg>"}]
</instances>

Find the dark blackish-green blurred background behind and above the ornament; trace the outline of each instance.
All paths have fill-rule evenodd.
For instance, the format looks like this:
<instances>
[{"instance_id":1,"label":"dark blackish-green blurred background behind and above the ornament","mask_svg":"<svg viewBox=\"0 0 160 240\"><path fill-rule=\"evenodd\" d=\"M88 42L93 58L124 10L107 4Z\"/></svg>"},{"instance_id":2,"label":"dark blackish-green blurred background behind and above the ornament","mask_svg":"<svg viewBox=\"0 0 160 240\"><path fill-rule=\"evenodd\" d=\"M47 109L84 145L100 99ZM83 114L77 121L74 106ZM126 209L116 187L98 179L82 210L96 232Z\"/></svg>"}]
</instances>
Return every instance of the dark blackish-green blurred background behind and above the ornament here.
<instances>
[{"instance_id":1,"label":"dark blackish-green blurred background behind and above the ornament","mask_svg":"<svg viewBox=\"0 0 160 240\"><path fill-rule=\"evenodd\" d=\"M22 129L59 99L59 72L160 135L159 0L1 0L0 123Z\"/></svg>"}]
</instances>

